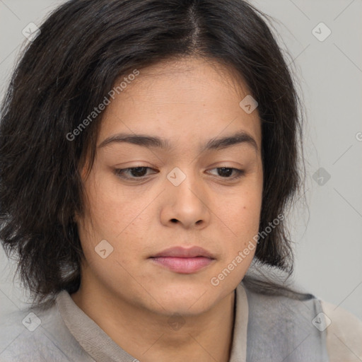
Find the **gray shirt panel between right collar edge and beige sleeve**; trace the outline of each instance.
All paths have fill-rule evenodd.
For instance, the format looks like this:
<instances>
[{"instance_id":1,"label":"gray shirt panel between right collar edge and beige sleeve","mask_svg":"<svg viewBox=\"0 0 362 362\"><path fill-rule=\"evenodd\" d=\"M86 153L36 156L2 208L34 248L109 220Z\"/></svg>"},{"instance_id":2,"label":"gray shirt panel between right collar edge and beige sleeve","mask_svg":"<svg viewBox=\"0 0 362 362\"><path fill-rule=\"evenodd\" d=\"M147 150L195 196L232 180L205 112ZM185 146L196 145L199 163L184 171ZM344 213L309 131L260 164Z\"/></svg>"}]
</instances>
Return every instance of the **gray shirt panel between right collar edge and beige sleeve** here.
<instances>
[{"instance_id":1,"label":"gray shirt panel between right collar edge and beige sleeve","mask_svg":"<svg viewBox=\"0 0 362 362\"><path fill-rule=\"evenodd\" d=\"M313 324L320 300L276 284L247 283L250 361L327 362L326 333ZM322 318L321 318L322 320Z\"/></svg>"}]
</instances>

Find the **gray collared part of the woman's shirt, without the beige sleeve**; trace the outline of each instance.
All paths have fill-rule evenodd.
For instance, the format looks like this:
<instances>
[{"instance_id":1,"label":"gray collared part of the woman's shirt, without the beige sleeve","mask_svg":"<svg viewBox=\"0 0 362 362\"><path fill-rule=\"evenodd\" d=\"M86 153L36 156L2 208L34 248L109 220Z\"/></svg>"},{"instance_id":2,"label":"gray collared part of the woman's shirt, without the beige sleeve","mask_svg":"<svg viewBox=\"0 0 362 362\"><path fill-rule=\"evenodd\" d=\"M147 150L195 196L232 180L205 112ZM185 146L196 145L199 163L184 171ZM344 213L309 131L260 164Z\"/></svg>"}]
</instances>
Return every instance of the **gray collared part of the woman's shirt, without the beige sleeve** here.
<instances>
[{"instance_id":1,"label":"gray collared part of the woman's shirt, without the beige sleeve","mask_svg":"<svg viewBox=\"0 0 362 362\"><path fill-rule=\"evenodd\" d=\"M229 362L334 361L329 358L335 347L328 345L328 322L317 298L263 296L242 282L235 290ZM355 321L354 327L361 324ZM356 346L354 357L359 353ZM344 361L354 361L347 359L352 354L342 355ZM1 321L0 362L10 361L137 362L78 308L67 291L47 309L19 310Z\"/></svg>"}]
</instances>

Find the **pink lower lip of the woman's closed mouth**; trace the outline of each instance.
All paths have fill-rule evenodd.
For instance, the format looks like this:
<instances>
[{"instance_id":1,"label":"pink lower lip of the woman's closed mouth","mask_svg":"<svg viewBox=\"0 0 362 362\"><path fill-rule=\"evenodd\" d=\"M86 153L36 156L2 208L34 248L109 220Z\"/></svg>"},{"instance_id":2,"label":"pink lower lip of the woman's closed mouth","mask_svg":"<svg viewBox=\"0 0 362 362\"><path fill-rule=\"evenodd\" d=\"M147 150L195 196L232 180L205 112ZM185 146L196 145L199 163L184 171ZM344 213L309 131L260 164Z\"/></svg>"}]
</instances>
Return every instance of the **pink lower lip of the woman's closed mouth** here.
<instances>
[{"instance_id":1,"label":"pink lower lip of the woman's closed mouth","mask_svg":"<svg viewBox=\"0 0 362 362\"><path fill-rule=\"evenodd\" d=\"M207 257L153 257L152 259L153 262L182 274L194 273L207 267L214 260Z\"/></svg>"}]
</instances>

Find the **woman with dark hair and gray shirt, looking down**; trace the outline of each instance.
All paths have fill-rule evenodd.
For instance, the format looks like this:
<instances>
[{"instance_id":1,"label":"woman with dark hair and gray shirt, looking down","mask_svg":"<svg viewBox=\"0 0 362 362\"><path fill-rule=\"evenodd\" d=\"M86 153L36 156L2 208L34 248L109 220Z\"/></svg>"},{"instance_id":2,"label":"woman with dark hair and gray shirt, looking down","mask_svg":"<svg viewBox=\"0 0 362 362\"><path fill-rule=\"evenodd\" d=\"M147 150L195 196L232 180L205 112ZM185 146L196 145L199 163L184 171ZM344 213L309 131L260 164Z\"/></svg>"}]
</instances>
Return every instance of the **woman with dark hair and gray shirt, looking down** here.
<instances>
[{"instance_id":1,"label":"woman with dark hair and gray shirt, looking down","mask_svg":"<svg viewBox=\"0 0 362 362\"><path fill-rule=\"evenodd\" d=\"M303 158L264 18L72 0L42 24L2 110L0 238L34 303L1 361L362 358L361 322L271 280L293 270Z\"/></svg>"}]
</instances>

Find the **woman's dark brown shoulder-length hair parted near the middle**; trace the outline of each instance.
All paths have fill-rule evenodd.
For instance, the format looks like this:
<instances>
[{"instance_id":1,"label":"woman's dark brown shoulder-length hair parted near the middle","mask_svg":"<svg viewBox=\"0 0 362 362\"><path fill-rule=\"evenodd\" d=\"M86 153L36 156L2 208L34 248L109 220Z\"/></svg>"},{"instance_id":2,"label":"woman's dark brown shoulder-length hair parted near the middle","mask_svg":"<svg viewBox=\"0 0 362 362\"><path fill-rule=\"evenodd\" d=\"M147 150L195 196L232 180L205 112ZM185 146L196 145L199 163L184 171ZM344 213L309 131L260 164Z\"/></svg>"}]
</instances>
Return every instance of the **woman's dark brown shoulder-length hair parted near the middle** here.
<instances>
[{"instance_id":1,"label":"woman's dark brown shoulder-length hair parted near the middle","mask_svg":"<svg viewBox=\"0 0 362 362\"><path fill-rule=\"evenodd\" d=\"M301 107L267 21L242 0L71 0L40 26L13 73L0 124L0 238L34 300L79 288L78 170L85 155L93 164L102 114L73 141L66 135L134 69L192 56L243 76L262 122L259 230L286 210L301 185ZM291 273L284 221L258 243L255 257Z\"/></svg>"}]
</instances>

